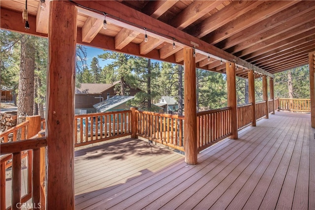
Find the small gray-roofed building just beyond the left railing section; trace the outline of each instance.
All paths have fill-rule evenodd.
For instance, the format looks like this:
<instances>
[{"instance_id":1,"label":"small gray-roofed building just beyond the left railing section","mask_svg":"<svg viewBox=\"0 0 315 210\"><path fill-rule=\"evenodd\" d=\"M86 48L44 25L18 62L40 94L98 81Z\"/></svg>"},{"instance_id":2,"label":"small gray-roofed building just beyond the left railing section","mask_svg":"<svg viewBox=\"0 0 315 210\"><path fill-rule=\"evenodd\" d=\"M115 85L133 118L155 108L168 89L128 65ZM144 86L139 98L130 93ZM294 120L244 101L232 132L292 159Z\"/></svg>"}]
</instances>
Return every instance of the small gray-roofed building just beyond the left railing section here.
<instances>
[{"instance_id":1,"label":"small gray-roofed building just beyond the left railing section","mask_svg":"<svg viewBox=\"0 0 315 210\"><path fill-rule=\"evenodd\" d=\"M110 111L122 111L130 109L130 106L127 105L127 102L134 98L134 96L126 95L115 95L111 98L108 98L102 102L99 102L93 107L97 112L110 112Z\"/></svg>"}]
</instances>

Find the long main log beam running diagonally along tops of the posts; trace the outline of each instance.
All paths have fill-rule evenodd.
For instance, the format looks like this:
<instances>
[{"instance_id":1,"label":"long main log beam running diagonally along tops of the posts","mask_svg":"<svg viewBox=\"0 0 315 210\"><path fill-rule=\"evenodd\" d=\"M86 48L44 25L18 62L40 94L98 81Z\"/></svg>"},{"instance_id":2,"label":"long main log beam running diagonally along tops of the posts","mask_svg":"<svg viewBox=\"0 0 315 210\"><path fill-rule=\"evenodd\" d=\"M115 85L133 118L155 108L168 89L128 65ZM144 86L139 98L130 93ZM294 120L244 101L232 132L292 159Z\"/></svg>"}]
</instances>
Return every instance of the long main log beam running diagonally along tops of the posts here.
<instances>
[{"instance_id":1,"label":"long main log beam running diagonally along tops of the posts","mask_svg":"<svg viewBox=\"0 0 315 210\"><path fill-rule=\"evenodd\" d=\"M263 69L259 69L258 67L252 65L251 63L242 60L240 58L237 58L236 56L233 56L205 41L202 41L194 36L191 36L190 34L175 29L170 25L167 25L157 19L154 19L150 16L147 16L146 14L139 12L135 9L132 9L122 3L119 3L117 1L106 1L106 4L103 3L104 1L88 1L88 0L74 0L74 2L78 2L79 4L92 8L97 9L100 11L107 12L109 15L106 17L106 20L108 22L111 22L117 26L131 29L131 30L140 30L143 32L143 27L146 27L148 29L148 36L152 36L154 38L161 39L167 43L172 44L173 40L170 37L175 37L178 42L176 42L176 46L180 46L181 48L187 46L192 47L193 44L191 42L195 43L198 47L198 50L205 52L209 52L210 56L215 59L222 59L225 60L232 60L239 65L246 66L248 68L256 68L261 72L264 72L265 74L273 77L272 74L269 74L268 72L265 72ZM95 12L91 12L89 10L83 9L78 7L78 12L93 16L93 17L100 17L100 14L97 14ZM121 20L125 20L126 22L122 22L118 19L114 19L114 17L117 17ZM131 24L130 24L131 23ZM135 27L139 26L139 27ZM156 32L151 32L156 31ZM150 33L150 34L149 34ZM161 35L161 34L165 34ZM177 48L177 47L176 47Z\"/></svg>"}]
</instances>

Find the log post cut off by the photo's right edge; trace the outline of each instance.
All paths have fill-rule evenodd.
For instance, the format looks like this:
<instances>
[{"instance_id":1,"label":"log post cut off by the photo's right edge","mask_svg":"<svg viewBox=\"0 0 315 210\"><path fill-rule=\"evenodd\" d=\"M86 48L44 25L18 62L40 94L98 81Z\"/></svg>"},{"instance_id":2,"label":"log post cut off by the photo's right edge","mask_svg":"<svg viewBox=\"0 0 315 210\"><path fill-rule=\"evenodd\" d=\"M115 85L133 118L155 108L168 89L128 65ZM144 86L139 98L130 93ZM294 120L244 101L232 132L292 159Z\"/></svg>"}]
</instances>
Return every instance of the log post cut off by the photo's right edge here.
<instances>
[{"instance_id":1,"label":"log post cut off by the photo's right edge","mask_svg":"<svg viewBox=\"0 0 315 210\"><path fill-rule=\"evenodd\" d=\"M315 51L309 53L310 93L311 93L311 125L315 128Z\"/></svg>"}]
</instances>

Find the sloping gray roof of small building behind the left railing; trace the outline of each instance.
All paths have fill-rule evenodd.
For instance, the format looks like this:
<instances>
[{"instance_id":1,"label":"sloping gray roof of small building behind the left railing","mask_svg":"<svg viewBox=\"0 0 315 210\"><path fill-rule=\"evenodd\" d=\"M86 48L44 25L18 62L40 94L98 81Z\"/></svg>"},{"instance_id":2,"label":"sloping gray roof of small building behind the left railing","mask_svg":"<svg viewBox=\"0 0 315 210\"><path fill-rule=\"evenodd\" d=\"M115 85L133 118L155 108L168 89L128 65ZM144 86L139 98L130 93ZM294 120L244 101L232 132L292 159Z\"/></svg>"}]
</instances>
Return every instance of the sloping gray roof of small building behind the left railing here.
<instances>
[{"instance_id":1,"label":"sloping gray roof of small building behind the left railing","mask_svg":"<svg viewBox=\"0 0 315 210\"><path fill-rule=\"evenodd\" d=\"M134 96L115 95L107 100L94 104L93 107L99 112L106 112L134 98Z\"/></svg>"}]
</instances>

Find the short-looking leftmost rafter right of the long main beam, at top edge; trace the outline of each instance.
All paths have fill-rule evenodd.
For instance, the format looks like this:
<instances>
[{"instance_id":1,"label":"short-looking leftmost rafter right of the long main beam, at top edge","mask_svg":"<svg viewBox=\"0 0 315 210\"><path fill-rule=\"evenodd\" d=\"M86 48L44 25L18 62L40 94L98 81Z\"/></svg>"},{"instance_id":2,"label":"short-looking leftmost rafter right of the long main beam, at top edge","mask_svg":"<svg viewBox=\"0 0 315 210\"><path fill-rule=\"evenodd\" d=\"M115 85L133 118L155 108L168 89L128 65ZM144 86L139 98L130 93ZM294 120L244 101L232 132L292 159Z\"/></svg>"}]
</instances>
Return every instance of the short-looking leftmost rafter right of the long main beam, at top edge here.
<instances>
[{"instance_id":1,"label":"short-looking leftmost rafter right of the long main beam, at top edge","mask_svg":"<svg viewBox=\"0 0 315 210\"><path fill-rule=\"evenodd\" d=\"M169 8L174 6L178 0L151 0L142 9L142 12L158 19Z\"/></svg>"}]
</instances>

